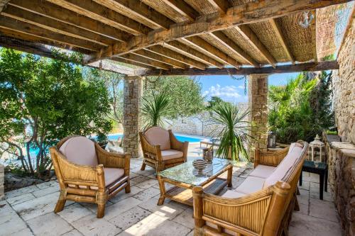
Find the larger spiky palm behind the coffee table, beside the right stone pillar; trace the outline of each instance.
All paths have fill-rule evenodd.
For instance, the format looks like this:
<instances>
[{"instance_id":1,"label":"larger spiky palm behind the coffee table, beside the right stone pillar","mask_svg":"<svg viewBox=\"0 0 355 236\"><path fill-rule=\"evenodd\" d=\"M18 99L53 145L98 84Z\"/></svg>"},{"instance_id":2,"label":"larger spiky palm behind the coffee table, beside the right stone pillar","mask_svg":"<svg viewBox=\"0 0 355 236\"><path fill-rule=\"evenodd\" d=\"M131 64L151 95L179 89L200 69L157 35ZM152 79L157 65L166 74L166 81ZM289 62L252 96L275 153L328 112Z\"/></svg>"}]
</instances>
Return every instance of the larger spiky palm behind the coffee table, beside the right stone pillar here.
<instances>
[{"instance_id":1,"label":"larger spiky palm behind the coffee table, beside the right stone pillar","mask_svg":"<svg viewBox=\"0 0 355 236\"><path fill-rule=\"evenodd\" d=\"M239 162L239 157L242 157L244 161L249 161L246 145L252 137L249 135L251 123L245 120L248 115L249 111L240 111L232 103L219 103L212 108L212 122L222 127L214 132L217 133L214 138L219 140L217 157L234 162Z\"/></svg>"}]
</instances>

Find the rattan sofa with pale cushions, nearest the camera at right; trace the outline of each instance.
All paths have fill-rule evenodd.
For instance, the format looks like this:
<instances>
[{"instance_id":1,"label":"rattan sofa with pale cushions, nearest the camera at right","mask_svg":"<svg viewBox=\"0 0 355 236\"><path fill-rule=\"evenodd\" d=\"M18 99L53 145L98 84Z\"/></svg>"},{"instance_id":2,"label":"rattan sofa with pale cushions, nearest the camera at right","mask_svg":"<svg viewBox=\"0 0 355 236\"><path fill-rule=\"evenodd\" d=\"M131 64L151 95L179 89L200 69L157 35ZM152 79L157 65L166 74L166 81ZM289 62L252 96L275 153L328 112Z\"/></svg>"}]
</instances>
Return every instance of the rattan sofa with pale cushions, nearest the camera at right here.
<instances>
[{"instance_id":1,"label":"rattan sofa with pale cushions, nearest the camera at right","mask_svg":"<svg viewBox=\"0 0 355 236\"><path fill-rule=\"evenodd\" d=\"M307 142L293 143L284 158L257 150L253 172L222 196L195 187L195 235L288 235L307 149Z\"/></svg>"}]
</instances>

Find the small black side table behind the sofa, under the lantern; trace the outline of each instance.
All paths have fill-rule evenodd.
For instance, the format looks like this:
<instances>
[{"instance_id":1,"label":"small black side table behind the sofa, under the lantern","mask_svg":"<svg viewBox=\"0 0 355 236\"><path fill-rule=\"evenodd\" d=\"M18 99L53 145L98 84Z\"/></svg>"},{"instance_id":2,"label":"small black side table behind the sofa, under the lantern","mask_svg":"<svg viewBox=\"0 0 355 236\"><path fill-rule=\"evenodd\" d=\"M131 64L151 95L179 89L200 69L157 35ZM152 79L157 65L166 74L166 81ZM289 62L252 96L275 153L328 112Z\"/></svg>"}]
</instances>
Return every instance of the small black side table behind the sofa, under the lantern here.
<instances>
[{"instance_id":1,"label":"small black side table behind the sofa, under the lantern","mask_svg":"<svg viewBox=\"0 0 355 236\"><path fill-rule=\"evenodd\" d=\"M328 184L328 165L324 162L305 161L302 172L310 172L320 175L320 200L323 200L323 189L327 192ZM300 175L300 186L302 186L302 173Z\"/></svg>"}]
</instances>

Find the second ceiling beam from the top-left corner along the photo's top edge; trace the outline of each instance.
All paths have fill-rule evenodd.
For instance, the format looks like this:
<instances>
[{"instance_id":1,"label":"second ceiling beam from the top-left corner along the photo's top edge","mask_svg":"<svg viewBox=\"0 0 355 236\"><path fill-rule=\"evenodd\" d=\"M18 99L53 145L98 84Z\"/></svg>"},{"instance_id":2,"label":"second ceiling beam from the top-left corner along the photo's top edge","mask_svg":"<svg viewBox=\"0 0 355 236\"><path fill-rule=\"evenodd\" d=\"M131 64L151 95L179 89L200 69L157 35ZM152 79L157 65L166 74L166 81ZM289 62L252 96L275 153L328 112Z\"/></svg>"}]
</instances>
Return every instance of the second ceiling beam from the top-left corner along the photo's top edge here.
<instances>
[{"instance_id":1,"label":"second ceiling beam from the top-left corner along the photo's top edge","mask_svg":"<svg viewBox=\"0 0 355 236\"><path fill-rule=\"evenodd\" d=\"M62 6L70 11L75 11L83 16L101 21L109 26L119 28L132 35L144 35L150 31L150 28L133 21L116 11L112 11L105 6L95 3L91 0L46 0L58 6Z\"/></svg>"}]
</instances>

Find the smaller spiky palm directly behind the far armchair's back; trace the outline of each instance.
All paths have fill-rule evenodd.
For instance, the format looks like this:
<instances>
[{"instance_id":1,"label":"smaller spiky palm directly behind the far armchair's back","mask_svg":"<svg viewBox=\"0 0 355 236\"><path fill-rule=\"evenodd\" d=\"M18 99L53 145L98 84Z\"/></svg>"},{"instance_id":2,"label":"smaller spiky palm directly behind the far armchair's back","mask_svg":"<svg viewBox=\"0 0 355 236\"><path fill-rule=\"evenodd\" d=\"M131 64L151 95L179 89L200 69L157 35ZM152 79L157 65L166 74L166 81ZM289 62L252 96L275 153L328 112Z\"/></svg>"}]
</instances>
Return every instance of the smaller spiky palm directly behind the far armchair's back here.
<instances>
[{"instance_id":1,"label":"smaller spiky palm directly behind the far armchair's back","mask_svg":"<svg viewBox=\"0 0 355 236\"><path fill-rule=\"evenodd\" d=\"M163 118L168 115L170 110L170 100L162 92L153 92L151 96L143 97L141 111L144 118L144 129L151 126L164 126Z\"/></svg>"}]
</instances>

